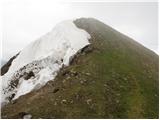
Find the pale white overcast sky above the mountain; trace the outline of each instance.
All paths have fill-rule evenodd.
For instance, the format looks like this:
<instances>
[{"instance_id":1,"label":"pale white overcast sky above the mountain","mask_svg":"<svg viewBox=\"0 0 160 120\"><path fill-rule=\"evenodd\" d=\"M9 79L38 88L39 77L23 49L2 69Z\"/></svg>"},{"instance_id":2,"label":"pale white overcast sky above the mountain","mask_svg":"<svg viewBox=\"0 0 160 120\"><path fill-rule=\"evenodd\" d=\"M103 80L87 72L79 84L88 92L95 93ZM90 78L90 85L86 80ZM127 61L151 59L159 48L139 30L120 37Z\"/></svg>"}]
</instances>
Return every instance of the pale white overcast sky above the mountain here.
<instances>
[{"instance_id":1,"label":"pale white overcast sky above the mountain","mask_svg":"<svg viewBox=\"0 0 160 120\"><path fill-rule=\"evenodd\" d=\"M158 53L158 4L131 2L53 2L6 0L3 3L3 59L49 32L57 23L94 17Z\"/></svg>"}]
</instances>

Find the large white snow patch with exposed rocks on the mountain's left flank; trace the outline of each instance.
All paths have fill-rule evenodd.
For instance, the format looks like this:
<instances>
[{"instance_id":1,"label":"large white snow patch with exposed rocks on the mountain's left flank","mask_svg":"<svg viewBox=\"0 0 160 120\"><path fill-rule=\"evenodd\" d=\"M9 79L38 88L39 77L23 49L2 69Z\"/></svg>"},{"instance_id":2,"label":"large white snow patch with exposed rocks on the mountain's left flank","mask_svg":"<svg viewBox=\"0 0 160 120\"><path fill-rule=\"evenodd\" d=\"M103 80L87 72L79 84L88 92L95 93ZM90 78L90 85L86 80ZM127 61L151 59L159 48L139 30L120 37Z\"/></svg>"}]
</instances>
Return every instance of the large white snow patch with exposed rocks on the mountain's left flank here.
<instances>
[{"instance_id":1,"label":"large white snow patch with exposed rocks on the mountain's left flank","mask_svg":"<svg viewBox=\"0 0 160 120\"><path fill-rule=\"evenodd\" d=\"M90 35L69 20L29 44L1 76L1 102L17 99L53 80L60 68L68 66L70 58L89 44L88 39Z\"/></svg>"}]
</instances>

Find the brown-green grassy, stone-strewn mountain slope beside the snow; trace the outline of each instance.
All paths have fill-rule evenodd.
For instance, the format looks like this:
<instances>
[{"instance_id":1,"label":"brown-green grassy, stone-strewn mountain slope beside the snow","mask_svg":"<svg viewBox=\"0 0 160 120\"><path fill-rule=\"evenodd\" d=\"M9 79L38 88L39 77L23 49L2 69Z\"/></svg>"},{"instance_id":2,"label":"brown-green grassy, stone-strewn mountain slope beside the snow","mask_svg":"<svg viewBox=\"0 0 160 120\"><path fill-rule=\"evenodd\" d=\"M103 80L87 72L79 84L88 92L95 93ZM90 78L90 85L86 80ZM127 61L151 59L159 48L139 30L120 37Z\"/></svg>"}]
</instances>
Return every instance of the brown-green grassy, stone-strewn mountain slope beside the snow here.
<instances>
[{"instance_id":1,"label":"brown-green grassy, stone-strewn mountain slope beside the snow","mask_svg":"<svg viewBox=\"0 0 160 120\"><path fill-rule=\"evenodd\" d=\"M3 118L158 118L158 56L94 19L78 19L92 51L55 81L2 109Z\"/></svg>"}]
</instances>

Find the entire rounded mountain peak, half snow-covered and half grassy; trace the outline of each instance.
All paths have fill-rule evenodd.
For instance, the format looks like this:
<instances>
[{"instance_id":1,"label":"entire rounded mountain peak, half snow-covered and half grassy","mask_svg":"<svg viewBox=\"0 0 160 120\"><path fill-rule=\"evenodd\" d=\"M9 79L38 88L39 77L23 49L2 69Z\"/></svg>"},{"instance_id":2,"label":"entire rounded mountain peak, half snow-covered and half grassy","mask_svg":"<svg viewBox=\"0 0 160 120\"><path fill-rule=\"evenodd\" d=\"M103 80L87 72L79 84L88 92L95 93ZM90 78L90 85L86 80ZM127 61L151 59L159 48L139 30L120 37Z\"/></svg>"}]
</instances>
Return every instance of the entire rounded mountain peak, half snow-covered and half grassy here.
<instances>
[{"instance_id":1,"label":"entire rounded mountain peak, half snow-covered and half grassy","mask_svg":"<svg viewBox=\"0 0 160 120\"><path fill-rule=\"evenodd\" d=\"M158 118L158 64L96 19L62 22L2 67L2 118Z\"/></svg>"}]
</instances>

